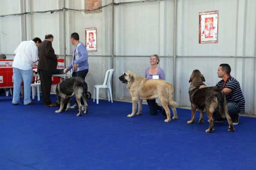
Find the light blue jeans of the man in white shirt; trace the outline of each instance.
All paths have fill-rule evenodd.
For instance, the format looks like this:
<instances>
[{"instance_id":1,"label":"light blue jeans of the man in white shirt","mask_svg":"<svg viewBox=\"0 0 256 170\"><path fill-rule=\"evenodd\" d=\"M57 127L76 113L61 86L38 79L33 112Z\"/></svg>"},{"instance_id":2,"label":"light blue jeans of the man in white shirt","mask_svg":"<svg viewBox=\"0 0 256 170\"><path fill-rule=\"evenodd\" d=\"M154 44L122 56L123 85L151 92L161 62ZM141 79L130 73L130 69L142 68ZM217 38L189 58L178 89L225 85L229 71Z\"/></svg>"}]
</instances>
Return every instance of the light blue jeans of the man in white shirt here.
<instances>
[{"instance_id":1,"label":"light blue jeans of the man in white shirt","mask_svg":"<svg viewBox=\"0 0 256 170\"><path fill-rule=\"evenodd\" d=\"M20 101L20 85L23 82L24 85L24 105L28 105L31 102L30 88L33 77L33 70L21 70L19 68L13 68L13 98L12 103L17 104Z\"/></svg>"}]
</instances>

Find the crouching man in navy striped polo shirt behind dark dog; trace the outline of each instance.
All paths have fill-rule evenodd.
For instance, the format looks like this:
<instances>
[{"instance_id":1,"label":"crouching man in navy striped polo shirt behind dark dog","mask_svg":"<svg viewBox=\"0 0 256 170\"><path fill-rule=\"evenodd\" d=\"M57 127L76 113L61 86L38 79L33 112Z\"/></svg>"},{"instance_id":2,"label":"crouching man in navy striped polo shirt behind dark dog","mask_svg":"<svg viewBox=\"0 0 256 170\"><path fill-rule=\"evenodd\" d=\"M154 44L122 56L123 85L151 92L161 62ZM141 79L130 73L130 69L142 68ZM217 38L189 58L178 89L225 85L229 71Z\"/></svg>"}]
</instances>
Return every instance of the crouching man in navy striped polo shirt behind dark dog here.
<instances>
[{"instance_id":1,"label":"crouching man in navy striped polo shirt behind dark dog","mask_svg":"<svg viewBox=\"0 0 256 170\"><path fill-rule=\"evenodd\" d=\"M226 94L227 109L232 119L233 125L238 125L239 114L244 113L245 100L242 94L239 82L230 76L231 68L228 64L221 64L218 68L218 77L222 80L219 81L215 87L223 89ZM200 87L202 88L202 87ZM223 121L219 111L213 113L215 122Z\"/></svg>"}]
</instances>

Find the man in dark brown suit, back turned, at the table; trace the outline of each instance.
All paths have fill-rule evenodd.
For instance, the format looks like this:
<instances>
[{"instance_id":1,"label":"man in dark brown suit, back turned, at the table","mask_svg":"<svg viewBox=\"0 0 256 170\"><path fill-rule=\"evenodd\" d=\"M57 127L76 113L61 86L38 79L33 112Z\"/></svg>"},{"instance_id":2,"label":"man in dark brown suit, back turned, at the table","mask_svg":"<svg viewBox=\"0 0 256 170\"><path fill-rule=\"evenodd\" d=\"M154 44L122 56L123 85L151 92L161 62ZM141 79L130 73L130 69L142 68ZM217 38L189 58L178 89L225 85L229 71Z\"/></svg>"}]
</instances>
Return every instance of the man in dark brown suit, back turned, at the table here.
<instances>
[{"instance_id":1,"label":"man in dark brown suit, back turned, at the table","mask_svg":"<svg viewBox=\"0 0 256 170\"><path fill-rule=\"evenodd\" d=\"M56 104L52 103L50 99L52 73L56 70L58 63L58 55L54 54L54 49L52 48L52 41L52 34L47 34L45 36L45 40L38 47L38 72L40 75L44 106L48 107L56 106Z\"/></svg>"}]
</instances>

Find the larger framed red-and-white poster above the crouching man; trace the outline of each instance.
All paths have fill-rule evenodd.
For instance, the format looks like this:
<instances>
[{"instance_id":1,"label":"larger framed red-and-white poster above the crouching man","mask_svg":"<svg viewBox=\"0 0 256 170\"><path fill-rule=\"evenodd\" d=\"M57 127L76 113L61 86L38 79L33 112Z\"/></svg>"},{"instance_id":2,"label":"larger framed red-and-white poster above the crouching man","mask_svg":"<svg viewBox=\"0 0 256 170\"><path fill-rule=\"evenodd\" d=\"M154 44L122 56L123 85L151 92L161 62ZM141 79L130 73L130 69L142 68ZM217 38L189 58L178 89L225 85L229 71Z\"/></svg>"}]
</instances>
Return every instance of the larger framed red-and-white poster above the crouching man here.
<instances>
[{"instance_id":1,"label":"larger framed red-and-white poster above the crouching man","mask_svg":"<svg viewBox=\"0 0 256 170\"><path fill-rule=\"evenodd\" d=\"M199 12L199 44L218 42L218 11Z\"/></svg>"}]
</instances>

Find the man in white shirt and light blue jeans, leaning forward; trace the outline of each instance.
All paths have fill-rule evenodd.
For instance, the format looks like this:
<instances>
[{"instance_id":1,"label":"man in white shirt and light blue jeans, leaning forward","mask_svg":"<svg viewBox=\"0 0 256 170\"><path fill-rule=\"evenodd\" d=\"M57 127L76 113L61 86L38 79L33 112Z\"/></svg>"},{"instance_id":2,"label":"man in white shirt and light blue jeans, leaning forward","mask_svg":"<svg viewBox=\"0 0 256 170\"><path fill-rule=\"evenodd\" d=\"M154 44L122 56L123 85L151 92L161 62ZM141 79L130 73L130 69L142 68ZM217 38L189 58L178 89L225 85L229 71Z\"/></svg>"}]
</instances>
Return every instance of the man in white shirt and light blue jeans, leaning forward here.
<instances>
[{"instance_id":1,"label":"man in white shirt and light blue jeans, leaning forward","mask_svg":"<svg viewBox=\"0 0 256 170\"><path fill-rule=\"evenodd\" d=\"M20 42L15 50L13 67L13 98L12 104L17 105L20 101L20 85L24 86L24 105L33 105L30 99L30 86L33 77L32 64L38 61L38 46L41 39L36 37L30 41Z\"/></svg>"}]
</instances>

